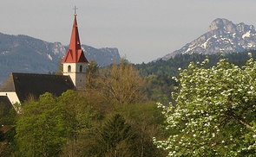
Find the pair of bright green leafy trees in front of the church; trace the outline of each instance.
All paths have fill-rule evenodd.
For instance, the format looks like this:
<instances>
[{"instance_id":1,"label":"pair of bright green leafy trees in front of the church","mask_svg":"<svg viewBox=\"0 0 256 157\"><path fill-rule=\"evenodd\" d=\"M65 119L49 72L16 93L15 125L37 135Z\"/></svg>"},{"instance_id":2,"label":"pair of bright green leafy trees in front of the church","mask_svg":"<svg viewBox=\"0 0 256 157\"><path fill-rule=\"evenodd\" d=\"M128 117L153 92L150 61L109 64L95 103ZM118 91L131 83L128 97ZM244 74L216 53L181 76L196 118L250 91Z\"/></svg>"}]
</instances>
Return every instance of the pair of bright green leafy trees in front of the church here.
<instances>
[{"instance_id":1,"label":"pair of bright green leafy trees in front of the church","mask_svg":"<svg viewBox=\"0 0 256 157\"><path fill-rule=\"evenodd\" d=\"M50 93L37 102L26 102L16 123L16 142L22 156L58 156L62 148L75 146L79 135L91 127L95 111L86 98L75 91L66 91L61 97ZM75 155L75 147L65 150Z\"/></svg>"}]
</instances>

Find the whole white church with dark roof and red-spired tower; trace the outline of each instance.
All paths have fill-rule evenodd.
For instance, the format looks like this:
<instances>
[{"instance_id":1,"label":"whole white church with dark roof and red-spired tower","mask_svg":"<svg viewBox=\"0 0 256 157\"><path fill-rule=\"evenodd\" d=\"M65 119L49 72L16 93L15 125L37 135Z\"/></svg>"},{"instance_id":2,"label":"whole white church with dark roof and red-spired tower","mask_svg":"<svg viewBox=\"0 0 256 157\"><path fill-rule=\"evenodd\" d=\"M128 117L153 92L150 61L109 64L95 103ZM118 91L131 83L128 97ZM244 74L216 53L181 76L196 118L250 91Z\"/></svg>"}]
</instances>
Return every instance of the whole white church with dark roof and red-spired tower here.
<instances>
[{"instance_id":1,"label":"whole white church with dark roof and red-spired tower","mask_svg":"<svg viewBox=\"0 0 256 157\"><path fill-rule=\"evenodd\" d=\"M45 92L59 97L62 92L85 87L89 61L82 51L74 16L69 50L62 60L63 75L12 72L0 88L0 105L22 104L30 97L38 99Z\"/></svg>"}]
</instances>

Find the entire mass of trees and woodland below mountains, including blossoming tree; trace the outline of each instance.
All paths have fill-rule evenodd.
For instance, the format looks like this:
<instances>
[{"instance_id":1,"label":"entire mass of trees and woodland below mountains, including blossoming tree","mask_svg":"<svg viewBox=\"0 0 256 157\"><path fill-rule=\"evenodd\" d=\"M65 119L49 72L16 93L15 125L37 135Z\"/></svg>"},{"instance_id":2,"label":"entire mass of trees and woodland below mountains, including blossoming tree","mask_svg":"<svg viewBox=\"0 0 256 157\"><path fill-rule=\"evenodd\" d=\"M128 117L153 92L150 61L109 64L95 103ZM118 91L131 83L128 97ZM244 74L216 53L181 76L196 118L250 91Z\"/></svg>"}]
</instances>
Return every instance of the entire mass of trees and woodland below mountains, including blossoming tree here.
<instances>
[{"instance_id":1,"label":"entire mass of trees and woodland below mountains, including blossoming tree","mask_svg":"<svg viewBox=\"0 0 256 157\"><path fill-rule=\"evenodd\" d=\"M0 109L0 156L255 156L255 58L91 61L85 89Z\"/></svg>"}]
</instances>

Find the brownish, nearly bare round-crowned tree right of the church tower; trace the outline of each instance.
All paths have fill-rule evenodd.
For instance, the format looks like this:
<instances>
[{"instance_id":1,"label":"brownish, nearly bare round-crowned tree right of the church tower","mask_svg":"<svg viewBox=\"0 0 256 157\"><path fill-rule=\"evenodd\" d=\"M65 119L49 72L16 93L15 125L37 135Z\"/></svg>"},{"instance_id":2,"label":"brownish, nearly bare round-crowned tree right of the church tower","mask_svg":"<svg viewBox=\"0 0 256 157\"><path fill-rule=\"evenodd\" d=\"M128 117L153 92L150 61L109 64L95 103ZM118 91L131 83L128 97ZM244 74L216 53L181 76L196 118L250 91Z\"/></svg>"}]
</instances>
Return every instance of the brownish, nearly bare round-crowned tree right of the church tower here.
<instances>
[{"instance_id":1,"label":"brownish, nearly bare round-crowned tree right of the church tower","mask_svg":"<svg viewBox=\"0 0 256 157\"><path fill-rule=\"evenodd\" d=\"M95 84L95 90L106 100L117 104L130 104L141 101L144 79L134 66L121 60L120 65L114 64L111 69L103 69Z\"/></svg>"}]
</instances>

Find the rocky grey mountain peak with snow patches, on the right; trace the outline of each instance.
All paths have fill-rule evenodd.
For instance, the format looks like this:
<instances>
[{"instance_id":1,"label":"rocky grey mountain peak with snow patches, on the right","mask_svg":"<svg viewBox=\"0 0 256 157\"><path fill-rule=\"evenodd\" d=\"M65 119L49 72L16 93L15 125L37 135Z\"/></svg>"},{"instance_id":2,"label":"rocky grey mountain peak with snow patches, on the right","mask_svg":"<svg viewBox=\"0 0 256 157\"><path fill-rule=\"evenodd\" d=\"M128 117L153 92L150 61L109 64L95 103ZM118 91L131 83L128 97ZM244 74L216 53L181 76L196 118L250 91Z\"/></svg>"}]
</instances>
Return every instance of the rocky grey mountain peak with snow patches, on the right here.
<instances>
[{"instance_id":1,"label":"rocky grey mountain peak with snow patches, on the right","mask_svg":"<svg viewBox=\"0 0 256 157\"><path fill-rule=\"evenodd\" d=\"M180 53L233 53L250 49L256 49L256 31L253 25L243 22L234 24L218 18L211 23L206 34L161 59L168 60Z\"/></svg>"}]
</instances>

